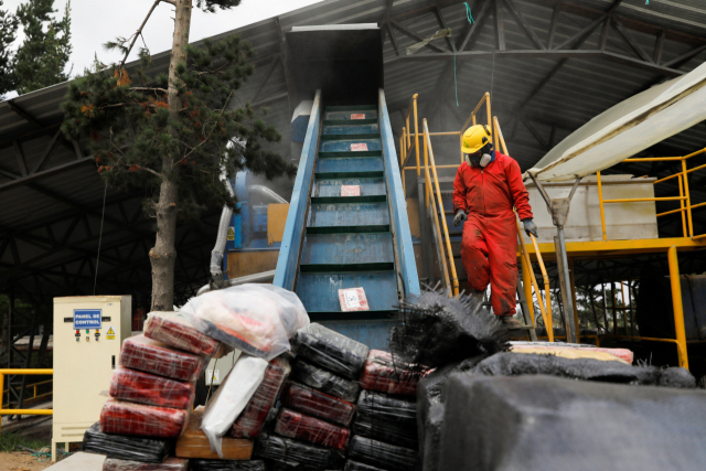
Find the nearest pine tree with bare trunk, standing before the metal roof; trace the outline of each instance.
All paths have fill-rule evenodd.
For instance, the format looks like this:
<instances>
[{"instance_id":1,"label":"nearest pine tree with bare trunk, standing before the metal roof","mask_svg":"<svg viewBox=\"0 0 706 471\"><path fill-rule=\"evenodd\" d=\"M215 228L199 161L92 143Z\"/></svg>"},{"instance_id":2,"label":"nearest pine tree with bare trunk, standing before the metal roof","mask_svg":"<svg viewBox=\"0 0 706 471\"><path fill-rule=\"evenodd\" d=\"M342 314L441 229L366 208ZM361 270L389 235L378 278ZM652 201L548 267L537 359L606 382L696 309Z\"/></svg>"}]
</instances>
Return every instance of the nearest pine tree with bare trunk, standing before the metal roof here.
<instances>
[{"instance_id":1,"label":"nearest pine tree with bare trunk, standing before the metal roof","mask_svg":"<svg viewBox=\"0 0 706 471\"><path fill-rule=\"evenodd\" d=\"M249 106L229 106L253 74L253 50L231 36L189 45L192 0L174 0L174 33L169 73L146 75L150 64L140 51L140 66L129 76L125 62L154 8L130 38L108 43L122 61L69 85L63 104L63 131L90 136L98 171L115 186L154 189L145 207L156 217L151 309L170 311L174 297L174 247L178 217L197 221L206 205L234 204L220 175L247 167L267 178L296 169L264 144L280 140ZM236 7L239 0L196 0L205 11ZM159 189L159 190L157 190ZM205 261L204 261L205 263Z\"/></svg>"}]
</instances>

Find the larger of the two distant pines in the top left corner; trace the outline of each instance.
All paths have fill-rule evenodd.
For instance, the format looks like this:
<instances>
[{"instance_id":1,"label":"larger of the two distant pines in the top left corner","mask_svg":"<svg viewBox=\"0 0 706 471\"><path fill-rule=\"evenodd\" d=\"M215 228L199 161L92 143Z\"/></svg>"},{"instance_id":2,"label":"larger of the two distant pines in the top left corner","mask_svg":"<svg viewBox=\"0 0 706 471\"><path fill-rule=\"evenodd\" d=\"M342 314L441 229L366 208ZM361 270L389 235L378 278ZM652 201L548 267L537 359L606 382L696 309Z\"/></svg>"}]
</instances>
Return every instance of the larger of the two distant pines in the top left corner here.
<instances>
[{"instance_id":1,"label":"larger of the two distant pines in the top left corner","mask_svg":"<svg viewBox=\"0 0 706 471\"><path fill-rule=\"evenodd\" d=\"M56 12L54 0L29 0L18 8L24 42L14 57L13 78L20 95L66 82L71 75L64 72L72 52L71 1L62 19L53 18Z\"/></svg>"}]
</instances>

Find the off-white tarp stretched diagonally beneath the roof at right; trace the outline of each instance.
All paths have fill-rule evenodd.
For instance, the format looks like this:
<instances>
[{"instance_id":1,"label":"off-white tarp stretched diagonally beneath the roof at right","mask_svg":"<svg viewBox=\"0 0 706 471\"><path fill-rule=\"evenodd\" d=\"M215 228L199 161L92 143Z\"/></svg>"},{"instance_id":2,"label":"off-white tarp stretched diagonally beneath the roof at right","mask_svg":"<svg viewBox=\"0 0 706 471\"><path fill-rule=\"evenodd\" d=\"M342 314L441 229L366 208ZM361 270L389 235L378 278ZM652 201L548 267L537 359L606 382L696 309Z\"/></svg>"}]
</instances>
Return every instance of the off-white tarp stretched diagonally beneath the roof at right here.
<instances>
[{"instance_id":1,"label":"off-white tarp stretched diagonally beneath the roof at right","mask_svg":"<svg viewBox=\"0 0 706 471\"><path fill-rule=\"evenodd\" d=\"M628 98L574 131L527 172L559 182L612 167L706 119L705 85L706 63Z\"/></svg>"}]
</instances>

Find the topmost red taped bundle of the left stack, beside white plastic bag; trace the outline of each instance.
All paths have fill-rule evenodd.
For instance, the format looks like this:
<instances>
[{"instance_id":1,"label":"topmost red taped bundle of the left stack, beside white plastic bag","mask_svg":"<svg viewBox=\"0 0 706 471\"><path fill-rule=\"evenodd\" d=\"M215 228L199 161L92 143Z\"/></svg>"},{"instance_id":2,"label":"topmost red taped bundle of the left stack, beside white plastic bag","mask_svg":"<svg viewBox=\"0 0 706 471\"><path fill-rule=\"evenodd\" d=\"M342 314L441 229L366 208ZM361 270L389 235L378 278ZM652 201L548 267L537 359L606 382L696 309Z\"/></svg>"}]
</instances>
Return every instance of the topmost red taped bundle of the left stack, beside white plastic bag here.
<instances>
[{"instance_id":1,"label":"topmost red taped bundle of the left stack, beside white plastic bag","mask_svg":"<svg viewBox=\"0 0 706 471\"><path fill-rule=\"evenodd\" d=\"M220 342L199 332L176 312L150 312L145 336L196 355L215 356Z\"/></svg>"}]
</instances>

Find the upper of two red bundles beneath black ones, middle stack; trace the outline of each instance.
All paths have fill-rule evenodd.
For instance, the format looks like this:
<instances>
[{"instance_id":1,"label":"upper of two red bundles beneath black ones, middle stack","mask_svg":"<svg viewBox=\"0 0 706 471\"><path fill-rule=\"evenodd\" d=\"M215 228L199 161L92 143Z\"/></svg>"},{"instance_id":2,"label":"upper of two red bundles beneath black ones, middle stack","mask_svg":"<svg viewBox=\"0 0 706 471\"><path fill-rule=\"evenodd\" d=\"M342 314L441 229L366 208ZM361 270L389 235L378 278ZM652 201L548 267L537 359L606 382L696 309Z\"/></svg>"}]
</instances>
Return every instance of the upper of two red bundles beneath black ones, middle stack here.
<instances>
[{"instance_id":1,"label":"upper of two red bundles beneath black ones, middle stack","mask_svg":"<svg viewBox=\"0 0 706 471\"><path fill-rule=\"evenodd\" d=\"M355 406L315 389L292 383L285 393L282 402L295 410L340 424L351 425Z\"/></svg>"}]
</instances>

